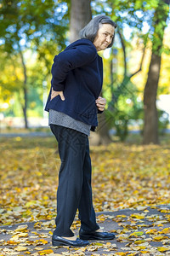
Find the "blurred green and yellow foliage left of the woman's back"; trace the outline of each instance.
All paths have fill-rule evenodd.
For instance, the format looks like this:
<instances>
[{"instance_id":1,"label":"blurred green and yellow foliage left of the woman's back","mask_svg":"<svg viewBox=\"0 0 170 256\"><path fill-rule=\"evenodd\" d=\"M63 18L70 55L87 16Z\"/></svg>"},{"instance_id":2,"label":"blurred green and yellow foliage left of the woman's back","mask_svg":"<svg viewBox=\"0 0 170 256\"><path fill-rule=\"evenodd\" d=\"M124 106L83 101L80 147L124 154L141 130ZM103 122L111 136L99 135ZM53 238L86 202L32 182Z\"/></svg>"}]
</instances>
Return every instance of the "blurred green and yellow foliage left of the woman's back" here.
<instances>
[{"instance_id":1,"label":"blurred green and yellow foliage left of the woman's back","mask_svg":"<svg viewBox=\"0 0 170 256\"><path fill-rule=\"evenodd\" d=\"M42 82L48 81L54 55L65 48L69 24L66 3L54 0L3 0L0 17L2 100L9 102L15 96L15 101L19 101L23 108L26 104L23 88L26 87L29 108L32 108L34 100L30 102L33 90L31 87L42 88ZM21 55L23 61L20 59ZM37 63L32 64L30 59ZM17 97L14 92L18 94ZM42 92L39 96L42 98ZM38 100L39 96L37 109L41 102ZM10 106L7 114L14 113L11 112L12 107L14 106ZM42 110L37 112L40 114ZM19 114L20 108L15 113Z\"/></svg>"}]
</instances>

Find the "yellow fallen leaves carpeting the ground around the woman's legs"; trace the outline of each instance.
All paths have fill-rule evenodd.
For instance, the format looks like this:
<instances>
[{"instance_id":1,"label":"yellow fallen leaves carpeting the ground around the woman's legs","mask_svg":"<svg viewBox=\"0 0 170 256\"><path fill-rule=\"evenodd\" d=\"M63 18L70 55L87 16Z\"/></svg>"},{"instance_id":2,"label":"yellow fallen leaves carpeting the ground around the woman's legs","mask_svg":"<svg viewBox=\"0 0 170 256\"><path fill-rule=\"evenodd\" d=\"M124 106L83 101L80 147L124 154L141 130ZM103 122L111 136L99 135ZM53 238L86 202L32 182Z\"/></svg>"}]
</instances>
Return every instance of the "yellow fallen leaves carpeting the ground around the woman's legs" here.
<instances>
[{"instance_id":1,"label":"yellow fallen leaves carpeting the ground around the woman's legs","mask_svg":"<svg viewBox=\"0 0 170 256\"><path fill-rule=\"evenodd\" d=\"M54 139L1 138L1 255L170 255L170 147L111 145L91 147L96 212L132 209L126 214L99 214L99 223L118 225L116 240L85 248L51 247L56 212L59 154ZM162 207L157 207L162 206ZM156 214L151 214L150 209ZM28 222L35 222L29 230ZM18 224L15 230L3 225ZM78 219L73 230L80 227ZM121 250L117 243L122 244ZM20 254L22 253L22 254ZM163 253L163 254L162 254ZM89 255L89 254L87 254Z\"/></svg>"}]
</instances>

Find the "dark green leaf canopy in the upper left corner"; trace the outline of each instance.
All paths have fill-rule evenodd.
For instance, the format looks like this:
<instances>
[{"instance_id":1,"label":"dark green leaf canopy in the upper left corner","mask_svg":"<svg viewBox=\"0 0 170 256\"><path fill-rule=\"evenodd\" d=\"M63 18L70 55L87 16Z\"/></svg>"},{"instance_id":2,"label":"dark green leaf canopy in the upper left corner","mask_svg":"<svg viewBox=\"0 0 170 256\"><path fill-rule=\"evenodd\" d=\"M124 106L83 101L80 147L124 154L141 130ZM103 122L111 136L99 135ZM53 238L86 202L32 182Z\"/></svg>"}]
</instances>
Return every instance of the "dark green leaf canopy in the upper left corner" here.
<instances>
[{"instance_id":1,"label":"dark green leaf canopy in the upper left corner","mask_svg":"<svg viewBox=\"0 0 170 256\"><path fill-rule=\"evenodd\" d=\"M64 47L68 20L62 19L65 15L62 6L63 3L53 0L3 0L0 38L3 39L4 50L14 53L31 45L38 49L45 39L56 40L59 48Z\"/></svg>"}]
</instances>

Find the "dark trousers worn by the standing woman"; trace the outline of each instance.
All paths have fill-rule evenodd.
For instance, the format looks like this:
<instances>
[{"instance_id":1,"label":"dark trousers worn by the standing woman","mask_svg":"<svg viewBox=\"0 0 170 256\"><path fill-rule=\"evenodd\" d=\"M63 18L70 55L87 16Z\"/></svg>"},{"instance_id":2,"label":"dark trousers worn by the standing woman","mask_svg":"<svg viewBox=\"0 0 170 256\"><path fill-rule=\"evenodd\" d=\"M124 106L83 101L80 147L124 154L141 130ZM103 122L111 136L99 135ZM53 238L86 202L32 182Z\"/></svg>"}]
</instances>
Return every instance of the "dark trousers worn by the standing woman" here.
<instances>
[{"instance_id":1,"label":"dark trousers worn by the standing woman","mask_svg":"<svg viewBox=\"0 0 170 256\"><path fill-rule=\"evenodd\" d=\"M61 160L54 235L74 235L71 224L77 209L82 229L98 230L92 201L88 136L59 125L50 125L50 128L58 141Z\"/></svg>"}]
</instances>

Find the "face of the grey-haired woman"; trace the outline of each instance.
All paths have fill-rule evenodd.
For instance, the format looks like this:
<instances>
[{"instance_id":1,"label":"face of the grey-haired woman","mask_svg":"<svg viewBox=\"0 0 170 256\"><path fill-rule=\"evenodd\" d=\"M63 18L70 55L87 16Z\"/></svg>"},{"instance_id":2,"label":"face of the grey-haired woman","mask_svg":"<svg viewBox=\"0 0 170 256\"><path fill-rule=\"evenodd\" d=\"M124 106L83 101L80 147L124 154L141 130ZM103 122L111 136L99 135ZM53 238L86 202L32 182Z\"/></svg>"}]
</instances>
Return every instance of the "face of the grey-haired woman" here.
<instances>
[{"instance_id":1,"label":"face of the grey-haired woman","mask_svg":"<svg viewBox=\"0 0 170 256\"><path fill-rule=\"evenodd\" d=\"M99 50L106 49L113 39L115 27L111 24L102 24L99 26L97 36L94 38L94 46Z\"/></svg>"}]
</instances>

